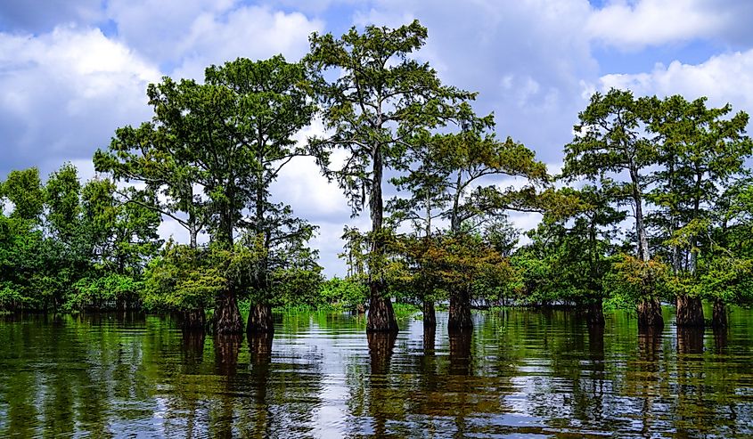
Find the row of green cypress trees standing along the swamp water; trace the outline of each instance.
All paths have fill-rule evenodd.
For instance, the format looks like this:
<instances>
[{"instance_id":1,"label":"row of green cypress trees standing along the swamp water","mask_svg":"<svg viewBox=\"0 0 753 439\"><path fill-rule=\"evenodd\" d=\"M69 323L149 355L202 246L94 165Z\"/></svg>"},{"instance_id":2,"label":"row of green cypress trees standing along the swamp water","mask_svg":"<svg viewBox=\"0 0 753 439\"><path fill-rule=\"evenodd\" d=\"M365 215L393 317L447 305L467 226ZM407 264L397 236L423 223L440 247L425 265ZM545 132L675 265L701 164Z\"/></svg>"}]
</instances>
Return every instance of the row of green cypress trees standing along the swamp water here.
<instances>
[{"instance_id":1,"label":"row of green cypress trees standing along the swamp water","mask_svg":"<svg viewBox=\"0 0 753 439\"><path fill-rule=\"evenodd\" d=\"M153 118L116 130L83 183L63 165L0 185L0 308L179 312L187 329L271 332L273 306L368 307L367 329L397 331L393 300L436 324L472 326L471 307L635 306L639 326L724 326L749 305L753 184L748 115L706 99L595 93L564 146L561 175L495 134L476 93L413 58L427 37L401 28L314 34L300 62L275 56L206 69L203 82L149 85ZM315 119L325 132L294 137ZM274 198L296 158L314 157L353 215L345 279L324 280L315 224ZM291 165L293 164L293 165ZM384 199L390 183L397 197ZM520 245L511 212L543 219ZM160 240L165 218L188 243ZM208 319L207 312L212 317Z\"/></svg>"}]
</instances>

